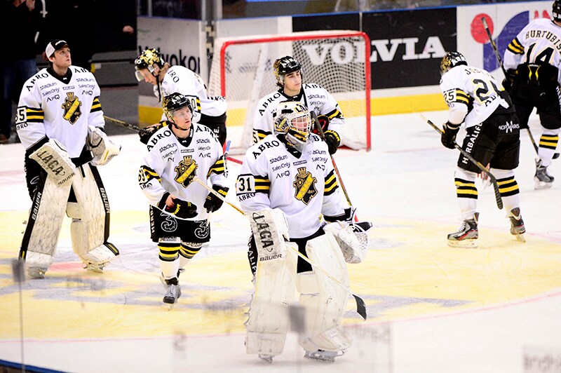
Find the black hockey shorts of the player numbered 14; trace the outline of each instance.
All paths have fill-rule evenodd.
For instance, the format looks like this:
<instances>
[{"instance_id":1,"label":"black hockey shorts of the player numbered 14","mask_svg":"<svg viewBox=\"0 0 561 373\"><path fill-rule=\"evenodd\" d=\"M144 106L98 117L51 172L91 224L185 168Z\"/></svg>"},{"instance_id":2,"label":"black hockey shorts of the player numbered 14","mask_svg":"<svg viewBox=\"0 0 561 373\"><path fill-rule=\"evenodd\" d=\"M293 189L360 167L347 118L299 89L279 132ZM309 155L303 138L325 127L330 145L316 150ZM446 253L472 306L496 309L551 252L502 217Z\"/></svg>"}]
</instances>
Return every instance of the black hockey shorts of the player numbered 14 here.
<instances>
[{"instance_id":1,"label":"black hockey shorts of the player numbered 14","mask_svg":"<svg viewBox=\"0 0 561 373\"><path fill-rule=\"evenodd\" d=\"M549 130L561 128L561 90L557 83L515 81L510 94L522 128L527 127L534 107L541 126Z\"/></svg>"}]
</instances>

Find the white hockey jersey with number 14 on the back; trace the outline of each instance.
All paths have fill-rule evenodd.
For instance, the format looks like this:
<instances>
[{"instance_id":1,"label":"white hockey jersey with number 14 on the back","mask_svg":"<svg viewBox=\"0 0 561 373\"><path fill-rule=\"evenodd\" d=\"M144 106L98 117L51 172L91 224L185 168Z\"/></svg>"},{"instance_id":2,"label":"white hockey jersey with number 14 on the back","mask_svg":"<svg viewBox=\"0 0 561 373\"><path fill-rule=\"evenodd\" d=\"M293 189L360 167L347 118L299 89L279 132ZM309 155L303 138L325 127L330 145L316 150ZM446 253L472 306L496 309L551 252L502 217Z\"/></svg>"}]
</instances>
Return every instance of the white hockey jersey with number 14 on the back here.
<instances>
[{"instance_id":1,"label":"white hockey jersey with number 14 on the back","mask_svg":"<svg viewBox=\"0 0 561 373\"><path fill-rule=\"evenodd\" d=\"M524 63L549 64L561 72L561 27L553 20L538 18L529 22L508 44L504 52L505 69ZM559 76L557 81L561 82Z\"/></svg>"}]
</instances>

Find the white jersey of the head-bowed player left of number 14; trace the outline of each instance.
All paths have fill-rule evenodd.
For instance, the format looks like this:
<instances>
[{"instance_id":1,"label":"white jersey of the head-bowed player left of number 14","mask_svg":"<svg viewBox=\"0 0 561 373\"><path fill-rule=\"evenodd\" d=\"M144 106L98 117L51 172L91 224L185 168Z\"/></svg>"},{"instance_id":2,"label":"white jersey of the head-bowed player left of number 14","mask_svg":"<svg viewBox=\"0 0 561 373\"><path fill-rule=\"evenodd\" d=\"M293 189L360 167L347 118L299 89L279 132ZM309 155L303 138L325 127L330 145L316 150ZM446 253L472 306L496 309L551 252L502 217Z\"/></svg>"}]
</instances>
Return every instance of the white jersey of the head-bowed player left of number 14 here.
<instances>
[{"instance_id":1,"label":"white jersey of the head-bowed player left of number 14","mask_svg":"<svg viewBox=\"0 0 561 373\"><path fill-rule=\"evenodd\" d=\"M440 79L440 90L450 109L450 114L457 105L468 107L464 118L466 128L475 126L489 118L499 105L508 108L503 100L494 78L483 69L466 65L457 65L448 70ZM450 118L452 123L461 123L457 118Z\"/></svg>"}]
</instances>

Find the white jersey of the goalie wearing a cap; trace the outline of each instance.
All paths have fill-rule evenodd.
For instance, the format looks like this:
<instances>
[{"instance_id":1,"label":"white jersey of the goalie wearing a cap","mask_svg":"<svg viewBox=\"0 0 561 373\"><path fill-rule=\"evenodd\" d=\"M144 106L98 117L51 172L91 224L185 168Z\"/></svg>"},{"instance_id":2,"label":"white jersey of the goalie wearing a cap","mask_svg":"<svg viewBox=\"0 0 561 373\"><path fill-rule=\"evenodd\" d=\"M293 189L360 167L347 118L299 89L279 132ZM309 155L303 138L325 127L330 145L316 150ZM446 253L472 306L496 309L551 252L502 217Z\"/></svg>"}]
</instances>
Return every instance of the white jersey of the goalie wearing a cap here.
<instances>
[{"instance_id":1,"label":"white jersey of the goalie wearing a cap","mask_svg":"<svg viewBox=\"0 0 561 373\"><path fill-rule=\"evenodd\" d=\"M67 82L45 68L24 83L15 128L25 149L46 136L60 141L69 156L76 158L86 144L88 125L104 127L95 77L82 67L69 70L72 76Z\"/></svg>"}]
</instances>

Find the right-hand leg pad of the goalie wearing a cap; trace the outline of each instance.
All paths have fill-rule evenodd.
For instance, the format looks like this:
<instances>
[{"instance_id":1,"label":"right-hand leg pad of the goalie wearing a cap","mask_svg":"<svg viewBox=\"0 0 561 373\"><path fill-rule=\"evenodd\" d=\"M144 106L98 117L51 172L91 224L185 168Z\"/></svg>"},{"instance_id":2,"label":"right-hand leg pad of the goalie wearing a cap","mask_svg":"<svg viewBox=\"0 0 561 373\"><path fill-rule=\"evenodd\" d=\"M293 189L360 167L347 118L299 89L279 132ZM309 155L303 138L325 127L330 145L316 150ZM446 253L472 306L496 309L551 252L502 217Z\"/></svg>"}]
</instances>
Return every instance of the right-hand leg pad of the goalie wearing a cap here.
<instances>
[{"instance_id":1,"label":"right-hand leg pad of the goalie wearing a cap","mask_svg":"<svg viewBox=\"0 0 561 373\"><path fill-rule=\"evenodd\" d=\"M87 164L81 169L81 175L72 181L76 201L69 201L67 206L67 215L72 217L72 249L86 266L101 269L119 255L119 250L107 242L109 201L99 173Z\"/></svg>"}]
</instances>

